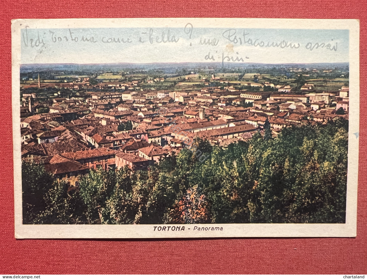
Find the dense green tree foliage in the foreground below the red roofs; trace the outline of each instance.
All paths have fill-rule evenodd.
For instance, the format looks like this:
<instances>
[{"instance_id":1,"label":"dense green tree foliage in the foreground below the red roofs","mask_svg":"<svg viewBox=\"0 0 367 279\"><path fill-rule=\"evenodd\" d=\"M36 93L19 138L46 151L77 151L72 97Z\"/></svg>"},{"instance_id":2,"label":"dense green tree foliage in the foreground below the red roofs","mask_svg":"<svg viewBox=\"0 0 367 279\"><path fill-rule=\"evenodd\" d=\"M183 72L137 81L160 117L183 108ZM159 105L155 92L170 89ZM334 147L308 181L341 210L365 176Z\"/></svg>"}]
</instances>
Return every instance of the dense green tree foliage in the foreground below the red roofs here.
<instances>
[{"instance_id":1,"label":"dense green tree foliage in the foreground below the red roofs","mask_svg":"<svg viewBox=\"0 0 367 279\"><path fill-rule=\"evenodd\" d=\"M227 148L197 139L145 171L91 170L68 192L23 162L25 223L344 223L348 121L297 126Z\"/></svg>"}]
</instances>

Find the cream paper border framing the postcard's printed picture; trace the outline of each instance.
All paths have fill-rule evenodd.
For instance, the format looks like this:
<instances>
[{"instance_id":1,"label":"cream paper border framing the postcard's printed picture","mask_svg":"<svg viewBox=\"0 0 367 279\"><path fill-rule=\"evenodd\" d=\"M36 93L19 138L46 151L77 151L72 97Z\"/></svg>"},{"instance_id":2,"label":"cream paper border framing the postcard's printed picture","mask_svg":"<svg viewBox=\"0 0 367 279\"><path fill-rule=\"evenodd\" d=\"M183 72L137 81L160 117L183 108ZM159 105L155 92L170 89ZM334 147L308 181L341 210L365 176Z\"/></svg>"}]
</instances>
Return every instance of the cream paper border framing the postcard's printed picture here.
<instances>
[{"instance_id":1,"label":"cream paper border framing the postcard's printed picture","mask_svg":"<svg viewBox=\"0 0 367 279\"><path fill-rule=\"evenodd\" d=\"M349 136L345 224L202 224L182 231L153 231L163 225L23 225L19 71L21 29L97 27L244 27L272 29L349 29ZM200 237L356 237L359 139L359 21L357 19L254 18L124 18L124 19L14 19L12 32L12 114L14 156L15 238L200 238ZM167 225L166 225L167 226ZM182 225L181 225L182 226ZM222 231L193 231L222 227Z\"/></svg>"}]
</instances>

